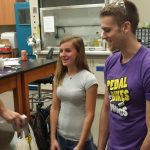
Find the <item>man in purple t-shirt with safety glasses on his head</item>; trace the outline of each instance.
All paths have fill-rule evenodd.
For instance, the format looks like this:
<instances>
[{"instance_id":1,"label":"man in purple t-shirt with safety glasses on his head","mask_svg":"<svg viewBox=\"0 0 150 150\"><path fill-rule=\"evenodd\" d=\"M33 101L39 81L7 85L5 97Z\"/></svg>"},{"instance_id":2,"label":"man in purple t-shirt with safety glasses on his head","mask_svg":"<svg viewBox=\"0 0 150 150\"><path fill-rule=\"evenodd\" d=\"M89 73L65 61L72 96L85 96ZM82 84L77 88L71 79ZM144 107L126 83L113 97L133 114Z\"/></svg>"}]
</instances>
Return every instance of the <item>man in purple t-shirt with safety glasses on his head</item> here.
<instances>
[{"instance_id":1,"label":"man in purple t-shirt with safety glasses on his head","mask_svg":"<svg viewBox=\"0 0 150 150\"><path fill-rule=\"evenodd\" d=\"M100 18L113 54L105 64L98 150L150 150L150 50L136 39L138 10L119 0L106 5Z\"/></svg>"}]
</instances>

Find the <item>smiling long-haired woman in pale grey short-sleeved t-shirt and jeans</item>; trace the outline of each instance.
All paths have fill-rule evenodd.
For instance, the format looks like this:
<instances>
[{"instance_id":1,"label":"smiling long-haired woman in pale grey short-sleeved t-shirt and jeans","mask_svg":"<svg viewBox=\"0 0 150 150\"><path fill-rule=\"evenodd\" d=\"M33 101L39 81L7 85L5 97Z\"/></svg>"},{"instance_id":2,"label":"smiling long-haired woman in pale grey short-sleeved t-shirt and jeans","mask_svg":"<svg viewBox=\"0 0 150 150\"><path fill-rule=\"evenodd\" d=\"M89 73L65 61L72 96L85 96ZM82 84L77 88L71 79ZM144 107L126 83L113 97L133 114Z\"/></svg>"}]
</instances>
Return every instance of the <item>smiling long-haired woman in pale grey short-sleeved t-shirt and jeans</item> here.
<instances>
[{"instance_id":1,"label":"smiling long-haired woman in pale grey short-sleeved t-shirt and jeans","mask_svg":"<svg viewBox=\"0 0 150 150\"><path fill-rule=\"evenodd\" d=\"M76 36L62 39L51 107L51 150L95 149L91 125L97 86L89 71L83 40Z\"/></svg>"}]
</instances>

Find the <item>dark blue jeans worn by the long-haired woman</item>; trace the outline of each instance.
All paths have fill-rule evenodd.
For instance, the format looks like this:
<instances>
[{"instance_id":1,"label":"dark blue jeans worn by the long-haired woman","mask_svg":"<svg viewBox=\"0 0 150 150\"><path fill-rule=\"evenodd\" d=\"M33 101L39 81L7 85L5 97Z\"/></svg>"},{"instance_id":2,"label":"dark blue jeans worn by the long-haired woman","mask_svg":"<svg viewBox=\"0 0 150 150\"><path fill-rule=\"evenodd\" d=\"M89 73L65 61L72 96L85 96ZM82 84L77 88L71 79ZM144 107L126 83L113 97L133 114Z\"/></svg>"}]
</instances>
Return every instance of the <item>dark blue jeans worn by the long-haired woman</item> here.
<instances>
[{"instance_id":1,"label":"dark blue jeans worn by the long-haired woman","mask_svg":"<svg viewBox=\"0 0 150 150\"><path fill-rule=\"evenodd\" d=\"M78 141L67 140L60 134L57 134L57 140L61 150L73 150L78 144ZM93 143L93 138L86 141L84 150L97 150L96 145Z\"/></svg>"}]
</instances>

